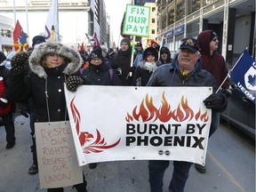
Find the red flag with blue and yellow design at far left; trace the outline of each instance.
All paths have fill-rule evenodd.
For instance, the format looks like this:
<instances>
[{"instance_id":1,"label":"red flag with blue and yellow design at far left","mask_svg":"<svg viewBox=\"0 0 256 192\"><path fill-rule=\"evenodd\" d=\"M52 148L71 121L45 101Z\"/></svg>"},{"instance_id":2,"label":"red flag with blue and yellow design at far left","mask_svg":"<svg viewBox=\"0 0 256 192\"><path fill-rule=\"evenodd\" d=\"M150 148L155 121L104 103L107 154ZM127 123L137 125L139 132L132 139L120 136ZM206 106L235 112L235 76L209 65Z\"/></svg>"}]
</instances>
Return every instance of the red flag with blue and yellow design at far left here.
<instances>
[{"instance_id":1,"label":"red flag with blue and yellow design at far left","mask_svg":"<svg viewBox=\"0 0 256 192\"><path fill-rule=\"evenodd\" d=\"M13 42L15 52L26 52L28 50L27 34L23 32L19 20L13 31Z\"/></svg>"}]
</instances>

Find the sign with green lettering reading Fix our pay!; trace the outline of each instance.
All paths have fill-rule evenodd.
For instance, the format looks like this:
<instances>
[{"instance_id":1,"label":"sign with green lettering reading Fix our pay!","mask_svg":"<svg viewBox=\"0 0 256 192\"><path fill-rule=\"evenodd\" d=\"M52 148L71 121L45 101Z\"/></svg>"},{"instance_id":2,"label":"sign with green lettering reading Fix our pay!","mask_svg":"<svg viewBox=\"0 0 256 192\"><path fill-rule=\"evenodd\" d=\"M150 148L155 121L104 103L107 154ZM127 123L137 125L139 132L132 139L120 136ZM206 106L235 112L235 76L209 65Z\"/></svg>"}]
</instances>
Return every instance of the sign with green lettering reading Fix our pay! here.
<instances>
[{"instance_id":1,"label":"sign with green lettering reading Fix our pay!","mask_svg":"<svg viewBox=\"0 0 256 192\"><path fill-rule=\"evenodd\" d=\"M126 5L124 18L124 35L148 36L150 7Z\"/></svg>"}]
</instances>

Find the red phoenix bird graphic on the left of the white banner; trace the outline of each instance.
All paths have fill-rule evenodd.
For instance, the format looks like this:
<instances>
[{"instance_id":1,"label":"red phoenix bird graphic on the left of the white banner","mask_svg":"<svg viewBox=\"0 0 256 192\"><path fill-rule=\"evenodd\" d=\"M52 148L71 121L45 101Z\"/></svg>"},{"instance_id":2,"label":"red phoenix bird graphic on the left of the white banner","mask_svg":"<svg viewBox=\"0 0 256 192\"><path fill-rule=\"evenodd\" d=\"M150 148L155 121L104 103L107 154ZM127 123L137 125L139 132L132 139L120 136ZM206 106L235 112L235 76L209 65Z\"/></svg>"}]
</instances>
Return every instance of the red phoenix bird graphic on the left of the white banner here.
<instances>
[{"instance_id":1,"label":"red phoenix bird graphic on the left of the white banner","mask_svg":"<svg viewBox=\"0 0 256 192\"><path fill-rule=\"evenodd\" d=\"M86 144L87 141L89 142L89 141L93 140L94 136L90 132L81 132L80 131L81 117L80 117L80 113L79 113L78 109L76 108L76 106L74 104L74 100L75 100L75 97L70 102L70 108L71 108L72 116L73 116L75 124L76 124L76 133L77 133L77 136L79 138L80 145L81 145L81 147L83 147L84 144ZM89 146L87 146L83 149L83 152L85 154L89 154L89 153L92 153L92 152L93 153L100 153L100 152L102 152L102 151L104 151L108 148L114 148L118 145L118 143L121 140L121 138L119 138L119 140L117 140L114 144L107 145L107 141L105 141L104 138L101 138L99 130L96 129L96 132L97 132L96 140L92 144L90 144Z\"/></svg>"}]
</instances>

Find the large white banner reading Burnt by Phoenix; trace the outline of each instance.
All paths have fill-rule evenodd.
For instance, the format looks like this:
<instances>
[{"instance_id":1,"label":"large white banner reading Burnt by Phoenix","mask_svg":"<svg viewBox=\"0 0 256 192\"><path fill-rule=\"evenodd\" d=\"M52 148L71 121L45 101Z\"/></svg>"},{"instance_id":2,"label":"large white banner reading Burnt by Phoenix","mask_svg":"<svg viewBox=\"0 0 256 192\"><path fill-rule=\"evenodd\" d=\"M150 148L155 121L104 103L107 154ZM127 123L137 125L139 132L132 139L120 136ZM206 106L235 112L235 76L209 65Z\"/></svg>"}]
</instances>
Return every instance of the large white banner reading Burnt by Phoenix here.
<instances>
[{"instance_id":1,"label":"large white banner reading Burnt by Phoenix","mask_svg":"<svg viewBox=\"0 0 256 192\"><path fill-rule=\"evenodd\" d=\"M204 164L210 87L79 86L65 89L78 164L180 160Z\"/></svg>"}]
</instances>

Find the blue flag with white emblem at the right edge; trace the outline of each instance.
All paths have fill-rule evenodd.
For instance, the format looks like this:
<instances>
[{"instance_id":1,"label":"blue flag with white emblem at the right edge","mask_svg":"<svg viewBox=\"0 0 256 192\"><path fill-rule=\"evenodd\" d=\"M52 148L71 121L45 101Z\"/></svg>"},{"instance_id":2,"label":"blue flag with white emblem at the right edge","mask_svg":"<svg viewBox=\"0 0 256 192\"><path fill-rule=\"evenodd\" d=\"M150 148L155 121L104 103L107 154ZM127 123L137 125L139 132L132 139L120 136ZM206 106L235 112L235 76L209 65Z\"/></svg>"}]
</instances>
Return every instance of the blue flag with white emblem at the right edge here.
<instances>
[{"instance_id":1,"label":"blue flag with white emblem at the right edge","mask_svg":"<svg viewBox=\"0 0 256 192\"><path fill-rule=\"evenodd\" d=\"M244 50L229 74L237 88L255 104L256 64L251 54Z\"/></svg>"}]
</instances>

